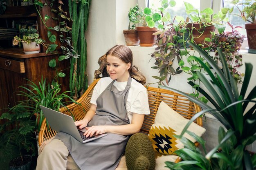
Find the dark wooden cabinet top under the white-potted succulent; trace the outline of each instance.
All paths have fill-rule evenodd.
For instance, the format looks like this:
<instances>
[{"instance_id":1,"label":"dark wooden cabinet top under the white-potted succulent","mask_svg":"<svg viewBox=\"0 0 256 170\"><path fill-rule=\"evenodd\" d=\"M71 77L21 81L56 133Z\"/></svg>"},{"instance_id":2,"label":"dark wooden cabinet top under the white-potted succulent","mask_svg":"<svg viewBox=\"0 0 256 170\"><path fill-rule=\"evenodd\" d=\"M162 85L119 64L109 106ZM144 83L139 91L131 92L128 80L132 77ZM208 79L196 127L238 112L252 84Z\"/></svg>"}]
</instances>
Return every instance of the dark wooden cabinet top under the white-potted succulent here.
<instances>
[{"instance_id":1,"label":"dark wooden cabinet top under the white-potted succulent","mask_svg":"<svg viewBox=\"0 0 256 170\"><path fill-rule=\"evenodd\" d=\"M21 59L21 58L48 56L48 55L54 55L54 54L52 54L52 53L48 53L48 54L46 54L46 53L25 54L23 52L23 49L21 49L21 48L9 48L9 49L0 50L0 55Z\"/></svg>"}]
</instances>

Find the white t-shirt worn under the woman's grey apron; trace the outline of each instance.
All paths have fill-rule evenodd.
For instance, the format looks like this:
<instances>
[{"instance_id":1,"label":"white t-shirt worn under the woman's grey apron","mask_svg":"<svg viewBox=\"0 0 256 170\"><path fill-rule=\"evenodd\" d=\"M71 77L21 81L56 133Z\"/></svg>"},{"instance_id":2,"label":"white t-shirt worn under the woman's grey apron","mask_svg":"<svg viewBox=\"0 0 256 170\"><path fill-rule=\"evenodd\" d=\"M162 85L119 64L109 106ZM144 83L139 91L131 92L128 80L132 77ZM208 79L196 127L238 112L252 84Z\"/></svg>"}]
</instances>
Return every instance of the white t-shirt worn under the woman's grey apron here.
<instances>
[{"instance_id":1,"label":"white t-shirt worn under the woman's grey apron","mask_svg":"<svg viewBox=\"0 0 256 170\"><path fill-rule=\"evenodd\" d=\"M107 88L107 86L113 80L110 77L104 77L99 80L99 82L94 87L91 103L97 105L96 100L99 95ZM123 91L126 87L127 82L114 82L114 86L119 91ZM131 123L132 121L132 113L137 114L150 114L149 106L148 106L148 92L146 88L137 82L135 79L132 78L130 90L127 97L126 102L126 110L127 110L127 117Z\"/></svg>"}]
</instances>

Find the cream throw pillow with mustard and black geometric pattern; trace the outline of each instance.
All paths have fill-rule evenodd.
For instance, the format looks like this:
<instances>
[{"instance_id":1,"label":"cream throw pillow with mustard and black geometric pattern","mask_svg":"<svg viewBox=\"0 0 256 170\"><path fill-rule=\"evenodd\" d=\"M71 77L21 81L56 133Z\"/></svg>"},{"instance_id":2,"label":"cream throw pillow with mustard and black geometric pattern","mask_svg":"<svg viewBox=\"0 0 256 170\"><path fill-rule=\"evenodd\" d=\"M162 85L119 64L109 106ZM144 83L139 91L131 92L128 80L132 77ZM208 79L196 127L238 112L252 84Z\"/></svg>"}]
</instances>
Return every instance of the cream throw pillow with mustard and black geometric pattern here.
<instances>
[{"instance_id":1,"label":"cream throw pillow with mustard and black geometric pattern","mask_svg":"<svg viewBox=\"0 0 256 170\"><path fill-rule=\"evenodd\" d=\"M167 104L161 102L155 116L155 123L151 126L148 134L154 150L160 154L171 155L175 150L184 148L180 140L173 135L180 135L188 122L188 119L185 119ZM188 130L198 136L202 136L205 132L203 127L195 123L192 123ZM184 134L184 137L195 142L195 139L187 133Z\"/></svg>"}]
</instances>

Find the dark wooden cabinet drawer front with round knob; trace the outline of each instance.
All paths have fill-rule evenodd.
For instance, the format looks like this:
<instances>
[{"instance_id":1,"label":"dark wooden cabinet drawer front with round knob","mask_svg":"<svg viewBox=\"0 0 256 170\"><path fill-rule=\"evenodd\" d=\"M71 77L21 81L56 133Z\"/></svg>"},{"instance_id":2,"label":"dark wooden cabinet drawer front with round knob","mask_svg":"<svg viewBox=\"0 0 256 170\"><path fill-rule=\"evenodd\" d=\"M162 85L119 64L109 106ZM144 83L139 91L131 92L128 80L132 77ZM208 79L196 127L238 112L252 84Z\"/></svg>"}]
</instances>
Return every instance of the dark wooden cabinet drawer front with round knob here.
<instances>
[{"instance_id":1,"label":"dark wooden cabinet drawer front with round knob","mask_svg":"<svg viewBox=\"0 0 256 170\"><path fill-rule=\"evenodd\" d=\"M0 57L0 68L9 70L9 71L14 71L16 73L25 73L24 62L11 60L8 58Z\"/></svg>"}]
</instances>

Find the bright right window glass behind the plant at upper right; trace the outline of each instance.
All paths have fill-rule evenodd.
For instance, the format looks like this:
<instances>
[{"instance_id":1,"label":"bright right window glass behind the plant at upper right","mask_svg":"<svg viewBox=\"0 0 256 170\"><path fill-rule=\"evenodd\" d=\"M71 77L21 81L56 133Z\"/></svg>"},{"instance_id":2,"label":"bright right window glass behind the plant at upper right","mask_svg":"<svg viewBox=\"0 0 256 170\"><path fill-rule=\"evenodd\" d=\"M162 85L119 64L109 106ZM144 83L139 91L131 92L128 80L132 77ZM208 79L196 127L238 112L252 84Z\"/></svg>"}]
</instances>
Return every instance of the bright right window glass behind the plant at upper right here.
<instances>
[{"instance_id":1,"label":"bright right window glass behind the plant at upper right","mask_svg":"<svg viewBox=\"0 0 256 170\"><path fill-rule=\"evenodd\" d=\"M223 7L225 7L225 8L233 7L234 4L231 4L229 1L230 0L223 0ZM239 3L241 3L241 2L245 2L245 0L239 0ZM240 10L243 10L242 5L239 5L239 6L240 6ZM245 22L244 20L242 20L241 17L236 16L236 15L240 15L240 12L239 12L238 8L234 7L234 11L232 13L233 13L232 15L228 15L229 22L234 27L235 26L242 26L243 28L237 28L236 30L239 31L242 35L246 35L245 24L249 23L249 22ZM228 24L226 24L225 31L232 31L231 27Z\"/></svg>"}]
</instances>

